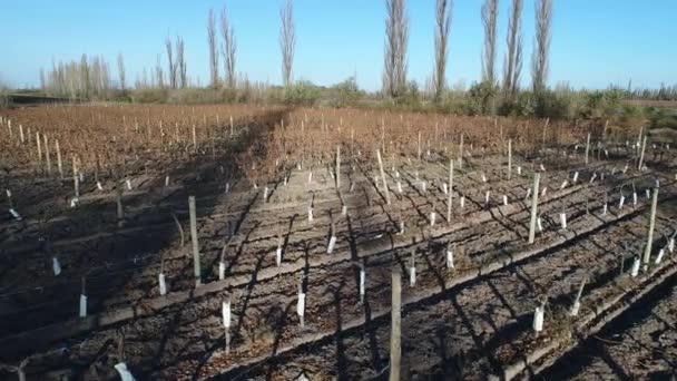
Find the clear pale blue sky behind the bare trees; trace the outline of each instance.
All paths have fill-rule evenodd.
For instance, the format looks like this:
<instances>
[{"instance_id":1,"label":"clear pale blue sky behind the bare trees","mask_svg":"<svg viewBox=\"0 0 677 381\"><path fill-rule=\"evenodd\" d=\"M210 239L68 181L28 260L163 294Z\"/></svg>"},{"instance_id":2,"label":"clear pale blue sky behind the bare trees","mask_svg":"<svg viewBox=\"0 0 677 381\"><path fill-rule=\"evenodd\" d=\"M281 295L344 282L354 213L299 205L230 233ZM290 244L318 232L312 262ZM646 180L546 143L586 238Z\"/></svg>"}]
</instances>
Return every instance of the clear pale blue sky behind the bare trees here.
<instances>
[{"instance_id":1,"label":"clear pale blue sky behind the bare trees","mask_svg":"<svg viewBox=\"0 0 677 381\"><path fill-rule=\"evenodd\" d=\"M469 85L480 76L480 0L455 0L448 82ZM500 0L499 72L510 0ZM238 45L237 71L249 79L281 82L277 43L282 0L0 0L0 81L36 86L52 59L102 55L115 68L118 52L134 81L164 53L167 35L186 43L188 75L208 77L206 19L227 6ZM420 84L433 59L434 0L409 0L409 78ZM676 0L555 0L549 84L604 88L609 84L657 87L677 82ZM383 0L296 0L294 78L331 85L357 74L359 85L380 88L384 42ZM524 0L529 84L533 1ZM164 59L164 56L163 56ZM115 70L114 70L115 72ZM117 72L115 74L117 77ZM128 80L129 80L128 79Z\"/></svg>"}]
</instances>

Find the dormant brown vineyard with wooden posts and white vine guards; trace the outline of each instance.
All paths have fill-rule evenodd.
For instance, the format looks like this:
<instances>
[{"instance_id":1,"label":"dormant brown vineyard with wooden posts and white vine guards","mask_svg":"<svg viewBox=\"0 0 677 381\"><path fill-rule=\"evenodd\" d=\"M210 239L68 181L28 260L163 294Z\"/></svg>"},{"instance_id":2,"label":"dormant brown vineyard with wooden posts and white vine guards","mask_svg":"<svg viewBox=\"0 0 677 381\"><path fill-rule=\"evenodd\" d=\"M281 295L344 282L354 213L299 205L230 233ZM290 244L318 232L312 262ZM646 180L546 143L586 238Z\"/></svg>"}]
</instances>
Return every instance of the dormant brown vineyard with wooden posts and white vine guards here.
<instances>
[{"instance_id":1,"label":"dormant brown vineyard with wooden posts and white vine guards","mask_svg":"<svg viewBox=\"0 0 677 381\"><path fill-rule=\"evenodd\" d=\"M243 105L0 117L0 379L674 375L677 155L646 130Z\"/></svg>"}]
</instances>

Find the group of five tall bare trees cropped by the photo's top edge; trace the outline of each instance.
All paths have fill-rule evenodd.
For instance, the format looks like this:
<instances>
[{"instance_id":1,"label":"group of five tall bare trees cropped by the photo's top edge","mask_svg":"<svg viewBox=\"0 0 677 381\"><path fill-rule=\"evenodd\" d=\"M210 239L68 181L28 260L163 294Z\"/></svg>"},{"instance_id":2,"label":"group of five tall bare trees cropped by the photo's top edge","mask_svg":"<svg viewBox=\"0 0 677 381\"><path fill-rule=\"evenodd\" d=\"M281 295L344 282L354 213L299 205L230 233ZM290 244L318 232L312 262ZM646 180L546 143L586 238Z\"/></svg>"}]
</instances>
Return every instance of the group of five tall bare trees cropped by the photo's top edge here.
<instances>
[{"instance_id":1,"label":"group of five tall bare trees cropped by the photo's top edge","mask_svg":"<svg viewBox=\"0 0 677 381\"><path fill-rule=\"evenodd\" d=\"M442 101L447 88L447 62L449 33L452 19L452 0L436 0L434 26L434 67L432 74L432 92L435 101ZM409 37L409 17L405 0L385 0L385 53L383 69L383 94L398 98L406 91L406 45ZM502 85L497 77L497 43L499 0L484 0L481 8L484 45L482 49L481 84L493 92L501 88L507 100L514 101L519 91L523 65L522 35L523 0L512 0L508 20L507 52L503 63ZM531 79L534 94L547 88L550 40L552 33L552 0L536 0L536 38L531 58ZM493 102L496 99L490 97ZM492 110L496 106L492 106Z\"/></svg>"}]
</instances>

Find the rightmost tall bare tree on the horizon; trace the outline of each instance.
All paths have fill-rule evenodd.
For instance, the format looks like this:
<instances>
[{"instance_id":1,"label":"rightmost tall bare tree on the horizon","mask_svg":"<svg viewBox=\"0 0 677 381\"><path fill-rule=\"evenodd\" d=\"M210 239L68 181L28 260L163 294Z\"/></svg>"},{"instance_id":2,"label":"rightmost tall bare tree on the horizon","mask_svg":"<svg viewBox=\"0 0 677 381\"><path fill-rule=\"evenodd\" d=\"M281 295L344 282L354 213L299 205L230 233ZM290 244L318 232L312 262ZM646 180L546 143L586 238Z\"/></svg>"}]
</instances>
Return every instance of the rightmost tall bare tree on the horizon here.
<instances>
[{"instance_id":1,"label":"rightmost tall bare tree on the horizon","mask_svg":"<svg viewBox=\"0 0 677 381\"><path fill-rule=\"evenodd\" d=\"M546 89L548 79L550 37L552 28L552 0L536 0L536 40L531 58L531 79L533 92Z\"/></svg>"}]
</instances>

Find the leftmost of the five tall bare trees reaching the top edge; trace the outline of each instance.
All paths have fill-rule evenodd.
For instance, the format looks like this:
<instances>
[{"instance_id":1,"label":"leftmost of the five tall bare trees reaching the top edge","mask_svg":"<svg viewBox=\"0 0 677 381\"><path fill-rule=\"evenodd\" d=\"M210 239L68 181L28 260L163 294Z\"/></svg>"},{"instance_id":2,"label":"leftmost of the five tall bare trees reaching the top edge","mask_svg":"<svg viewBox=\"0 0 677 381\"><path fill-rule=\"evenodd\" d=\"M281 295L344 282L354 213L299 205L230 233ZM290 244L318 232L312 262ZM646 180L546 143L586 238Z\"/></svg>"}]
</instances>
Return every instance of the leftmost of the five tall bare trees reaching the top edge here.
<instances>
[{"instance_id":1,"label":"leftmost of the five tall bare trees reaching the top edge","mask_svg":"<svg viewBox=\"0 0 677 381\"><path fill-rule=\"evenodd\" d=\"M390 97L396 97L406 87L409 17L405 0L385 0L385 11L383 92Z\"/></svg>"}]
</instances>

